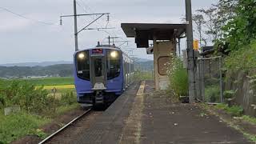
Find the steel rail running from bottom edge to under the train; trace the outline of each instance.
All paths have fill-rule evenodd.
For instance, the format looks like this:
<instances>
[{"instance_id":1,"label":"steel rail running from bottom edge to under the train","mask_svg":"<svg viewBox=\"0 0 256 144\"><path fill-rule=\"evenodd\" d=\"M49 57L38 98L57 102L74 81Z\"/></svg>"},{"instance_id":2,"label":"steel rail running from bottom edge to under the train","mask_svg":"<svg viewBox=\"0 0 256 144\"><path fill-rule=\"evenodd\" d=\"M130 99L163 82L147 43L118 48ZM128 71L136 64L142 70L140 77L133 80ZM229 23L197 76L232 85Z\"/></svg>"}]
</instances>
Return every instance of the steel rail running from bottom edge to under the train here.
<instances>
[{"instance_id":1,"label":"steel rail running from bottom edge to under the train","mask_svg":"<svg viewBox=\"0 0 256 144\"><path fill-rule=\"evenodd\" d=\"M63 130L66 130L67 127L71 126L74 122L77 122L79 119L85 117L86 115L90 114L90 112L92 111L92 109L90 108L89 110L86 110L83 114L79 115L77 118L74 118L72 121L70 121L69 123L67 123L65 126L62 126L61 129L57 130L54 132L54 134L50 134L50 136L48 136L47 138L43 139L41 142L39 142L38 144L44 144L46 142L49 142L52 138L54 138L55 136L57 136L58 134L60 134Z\"/></svg>"}]
</instances>

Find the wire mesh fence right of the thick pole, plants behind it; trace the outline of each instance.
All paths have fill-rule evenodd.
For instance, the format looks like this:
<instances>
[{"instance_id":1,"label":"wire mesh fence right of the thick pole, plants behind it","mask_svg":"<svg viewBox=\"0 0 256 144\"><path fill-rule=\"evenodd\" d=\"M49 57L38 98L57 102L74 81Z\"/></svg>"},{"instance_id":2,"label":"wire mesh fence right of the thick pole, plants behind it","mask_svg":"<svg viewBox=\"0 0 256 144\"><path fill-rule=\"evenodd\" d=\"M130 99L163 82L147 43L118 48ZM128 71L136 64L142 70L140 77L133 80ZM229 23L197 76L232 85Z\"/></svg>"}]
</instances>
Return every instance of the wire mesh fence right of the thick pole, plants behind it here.
<instances>
[{"instance_id":1,"label":"wire mesh fence right of the thick pole, plants behind it","mask_svg":"<svg viewBox=\"0 0 256 144\"><path fill-rule=\"evenodd\" d=\"M222 57L198 58L195 74L197 99L223 102Z\"/></svg>"}]
</instances>

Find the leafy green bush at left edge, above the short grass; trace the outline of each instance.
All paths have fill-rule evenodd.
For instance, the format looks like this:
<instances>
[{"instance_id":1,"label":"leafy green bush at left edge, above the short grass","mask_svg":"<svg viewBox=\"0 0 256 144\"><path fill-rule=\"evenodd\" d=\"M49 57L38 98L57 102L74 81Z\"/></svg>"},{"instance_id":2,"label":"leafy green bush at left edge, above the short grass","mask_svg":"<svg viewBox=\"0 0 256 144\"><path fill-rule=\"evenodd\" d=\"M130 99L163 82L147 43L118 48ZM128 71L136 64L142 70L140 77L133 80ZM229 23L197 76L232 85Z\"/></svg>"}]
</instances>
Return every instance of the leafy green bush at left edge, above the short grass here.
<instances>
[{"instance_id":1,"label":"leafy green bush at left edge, above the short grass","mask_svg":"<svg viewBox=\"0 0 256 144\"><path fill-rule=\"evenodd\" d=\"M45 114L52 110L56 101L58 100L49 97L42 87L36 88L30 82L8 81L0 90L2 106L18 105L22 110L35 114Z\"/></svg>"}]
</instances>

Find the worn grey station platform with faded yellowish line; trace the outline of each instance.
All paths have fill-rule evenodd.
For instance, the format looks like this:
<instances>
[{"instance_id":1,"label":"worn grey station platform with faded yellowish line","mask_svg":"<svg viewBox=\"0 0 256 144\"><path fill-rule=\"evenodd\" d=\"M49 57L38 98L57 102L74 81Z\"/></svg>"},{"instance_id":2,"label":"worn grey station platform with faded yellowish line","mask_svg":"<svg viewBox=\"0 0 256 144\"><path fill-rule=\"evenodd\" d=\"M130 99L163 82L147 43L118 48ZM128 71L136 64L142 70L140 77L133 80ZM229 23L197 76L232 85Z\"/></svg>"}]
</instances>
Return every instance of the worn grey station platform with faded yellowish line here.
<instances>
[{"instance_id":1,"label":"worn grey station platform with faded yellowish line","mask_svg":"<svg viewBox=\"0 0 256 144\"><path fill-rule=\"evenodd\" d=\"M145 88L145 89L144 89ZM134 83L74 143L250 143L194 105L173 103L154 82Z\"/></svg>"}]
</instances>

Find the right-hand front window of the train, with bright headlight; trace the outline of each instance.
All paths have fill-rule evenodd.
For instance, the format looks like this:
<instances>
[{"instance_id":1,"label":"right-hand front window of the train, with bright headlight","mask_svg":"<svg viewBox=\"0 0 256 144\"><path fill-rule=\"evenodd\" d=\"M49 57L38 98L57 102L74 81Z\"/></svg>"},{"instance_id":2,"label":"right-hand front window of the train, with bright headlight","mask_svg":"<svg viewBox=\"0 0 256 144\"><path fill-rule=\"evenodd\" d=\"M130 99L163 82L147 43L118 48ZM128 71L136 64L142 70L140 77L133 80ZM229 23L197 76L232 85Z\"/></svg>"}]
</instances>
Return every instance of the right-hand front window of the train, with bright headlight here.
<instances>
[{"instance_id":1,"label":"right-hand front window of the train, with bright headlight","mask_svg":"<svg viewBox=\"0 0 256 144\"><path fill-rule=\"evenodd\" d=\"M121 70L121 54L118 50L107 51L107 79L113 79L120 75Z\"/></svg>"}]
</instances>

